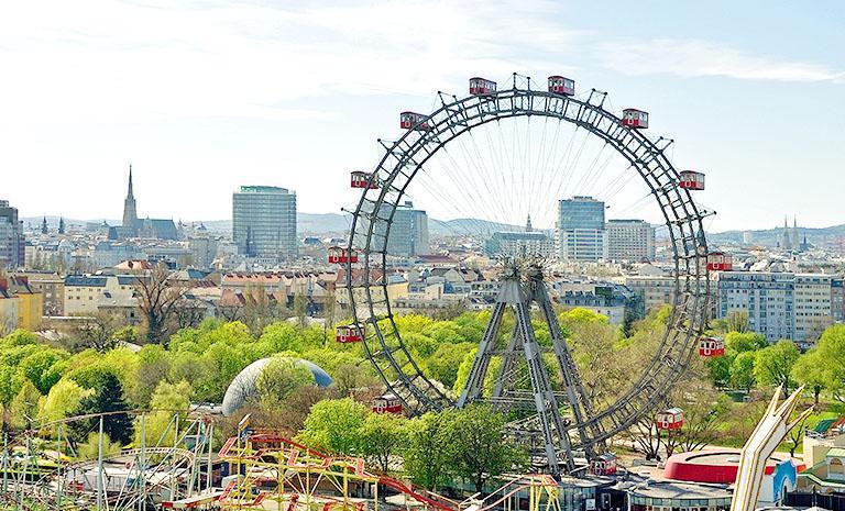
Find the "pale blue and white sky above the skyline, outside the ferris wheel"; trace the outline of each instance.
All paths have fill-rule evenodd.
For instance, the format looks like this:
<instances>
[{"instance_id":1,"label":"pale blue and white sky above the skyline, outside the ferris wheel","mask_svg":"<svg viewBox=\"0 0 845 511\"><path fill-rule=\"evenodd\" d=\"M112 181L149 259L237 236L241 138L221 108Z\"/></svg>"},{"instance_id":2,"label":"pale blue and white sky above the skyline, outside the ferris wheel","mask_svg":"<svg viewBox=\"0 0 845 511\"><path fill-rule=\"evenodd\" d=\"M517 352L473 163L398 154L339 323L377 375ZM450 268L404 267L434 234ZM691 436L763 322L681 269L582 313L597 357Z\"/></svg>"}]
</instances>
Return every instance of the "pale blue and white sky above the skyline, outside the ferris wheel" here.
<instances>
[{"instance_id":1,"label":"pale blue and white sky above the skyline, outside the ferris wheel","mask_svg":"<svg viewBox=\"0 0 845 511\"><path fill-rule=\"evenodd\" d=\"M119 219L131 163L142 215L228 219L241 185L340 212L398 112L561 74L650 112L711 230L845 223L843 26L837 0L10 2L0 199Z\"/></svg>"}]
</instances>

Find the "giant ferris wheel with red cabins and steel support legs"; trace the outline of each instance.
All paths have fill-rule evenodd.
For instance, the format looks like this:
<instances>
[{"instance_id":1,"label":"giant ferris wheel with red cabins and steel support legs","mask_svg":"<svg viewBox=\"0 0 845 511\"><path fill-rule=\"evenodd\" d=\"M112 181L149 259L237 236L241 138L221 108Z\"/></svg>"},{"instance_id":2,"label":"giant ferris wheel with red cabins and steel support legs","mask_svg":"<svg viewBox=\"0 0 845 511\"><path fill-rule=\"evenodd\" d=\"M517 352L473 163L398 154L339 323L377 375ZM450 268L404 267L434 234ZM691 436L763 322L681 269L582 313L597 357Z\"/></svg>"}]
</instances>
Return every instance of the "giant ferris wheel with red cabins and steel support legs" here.
<instances>
[{"instance_id":1,"label":"giant ferris wheel with red cabins and steel support legs","mask_svg":"<svg viewBox=\"0 0 845 511\"><path fill-rule=\"evenodd\" d=\"M721 340L705 337L709 300L709 271L731 269L731 257L709 253L702 220L712 212L699 208L692 192L704 189L704 175L694 170L678 171L666 148L671 140L651 140L645 134L648 112L624 109L621 116L605 109L607 95L592 89L577 96L574 80L553 75L546 90L513 86L500 88L494 80L470 78L469 96L458 98L439 92L440 107L421 114L402 112L404 130L395 142L381 141L384 156L371 173L352 174L352 188L361 196L353 214L348 245L332 247L329 262L344 266L347 289L353 322L338 327L340 343L361 343L389 392L408 414L448 407L486 402L516 419L511 424L514 436L525 438L552 475L577 473L590 468L605 454L607 440L629 427L644 415L667 404L672 384L684 374L691 357L720 356ZM636 385L615 403L597 410L581 384L566 337L555 316L544 264L528 257L506 260L502 286L484 335L479 345L469 379L458 399L450 398L420 370L405 346L394 322L382 278L387 267L387 237L394 212L402 203L408 186L426 173L426 164L438 152L482 125L500 125L498 121L539 116L572 123L615 149L646 184L665 219L674 260L676 293L672 316L658 353L645 368ZM353 273L356 278L352 278ZM542 348L531 323L531 311L539 310L548 327L551 349ZM503 332L506 311L516 318L513 331ZM545 352L550 351L547 354ZM557 391L544 356L552 356L555 370L564 382ZM497 373L492 391L484 381ZM515 385L517 373L528 374L529 385ZM668 409L660 416L673 414L671 421L657 420L658 427L670 430L682 424L682 411ZM674 424L674 425L671 425ZM577 459L586 458L585 467Z\"/></svg>"}]
</instances>

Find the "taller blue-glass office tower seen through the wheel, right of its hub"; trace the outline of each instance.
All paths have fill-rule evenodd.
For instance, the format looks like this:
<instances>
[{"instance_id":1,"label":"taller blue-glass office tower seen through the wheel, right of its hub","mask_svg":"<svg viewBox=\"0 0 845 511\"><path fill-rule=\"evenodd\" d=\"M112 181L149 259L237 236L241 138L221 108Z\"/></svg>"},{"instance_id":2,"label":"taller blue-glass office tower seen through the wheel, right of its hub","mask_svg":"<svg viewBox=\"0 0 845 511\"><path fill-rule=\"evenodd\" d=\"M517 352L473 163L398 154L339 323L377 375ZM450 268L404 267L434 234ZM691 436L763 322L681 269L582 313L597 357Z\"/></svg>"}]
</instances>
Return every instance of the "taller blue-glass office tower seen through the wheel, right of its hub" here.
<instances>
[{"instance_id":1,"label":"taller blue-glass office tower seen through the wheel, right of its hub","mask_svg":"<svg viewBox=\"0 0 845 511\"><path fill-rule=\"evenodd\" d=\"M604 202L573 197L558 203L558 255L569 262L607 258Z\"/></svg>"}]
</instances>

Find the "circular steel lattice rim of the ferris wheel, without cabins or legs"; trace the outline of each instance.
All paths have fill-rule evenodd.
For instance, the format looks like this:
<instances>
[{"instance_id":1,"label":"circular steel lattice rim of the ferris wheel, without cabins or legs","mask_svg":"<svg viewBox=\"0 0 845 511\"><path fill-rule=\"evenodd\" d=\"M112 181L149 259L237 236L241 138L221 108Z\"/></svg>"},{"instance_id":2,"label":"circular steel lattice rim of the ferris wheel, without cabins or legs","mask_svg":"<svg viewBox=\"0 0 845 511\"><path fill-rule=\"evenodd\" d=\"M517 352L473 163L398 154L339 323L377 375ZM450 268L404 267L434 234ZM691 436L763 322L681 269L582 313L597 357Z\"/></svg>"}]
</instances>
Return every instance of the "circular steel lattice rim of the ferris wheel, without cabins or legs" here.
<instances>
[{"instance_id":1,"label":"circular steel lattice rim of the ferris wheel, without cabins or legs","mask_svg":"<svg viewBox=\"0 0 845 511\"><path fill-rule=\"evenodd\" d=\"M591 102L594 93L596 98L600 99L597 103ZM416 174L419 170L424 170L422 166L426 164L426 162L428 162L428 159L434 157L434 155L446 147L454 138L458 138L459 136L474 130L475 127L489 124L492 121L531 115L542 115L546 118L553 118L562 122L564 121L573 123L575 124L577 129L583 127L589 131L591 135L596 136L600 140L603 140L605 143L612 145L614 151L627 159L630 164L630 167L633 167L637 174L640 175L640 178L646 182L647 187L649 188L649 195L657 202L663 215L663 220L666 221L665 225L669 231L674 267L672 315L670 316L670 321L667 324L666 332L662 334L662 338L660 341L657 353L654 355L646 369L641 373L639 380L636 381L630 389L623 393L606 409L596 412L588 421L584 421L584 423L573 424L577 427L586 427L591 424L597 426L603 419L610 418L612 420L612 427L602 434L595 435L601 437L591 438L593 442L607 440L647 413L647 411L637 410L638 407L636 404L640 404L639 408L643 408L641 404L654 404L652 398L663 399L666 397L669 387L669 385L666 384L677 381L677 379L689 366L694 353L693 348L695 347L695 341L703 333L706 324L706 309L710 289L705 259L707 248L702 220L706 216L707 213L699 209L698 204L693 201L689 190L679 187L680 173L674 168L672 163L663 153L668 144L662 148L658 146L661 141L669 141L669 143L672 141L663 137L660 137L657 141L652 141L640 130L623 125L621 116L617 116L613 112L610 112L603 108L606 93L599 92L595 89L593 89L593 92L591 92L590 98L586 100L579 100L573 97L561 96L541 90L519 89L517 87L503 89L496 91L495 93L483 96L468 96L460 99L457 97L451 97L453 98L453 101L451 102L443 100L443 93L439 93L439 96L442 103L441 107L436 109L432 113L425 115L426 122L428 123L427 125L429 126L428 130L406 130L405 133L403 133L403 135L392 145L386 144L384 141L380 140L380 143L385 148L385 154L375 166L375 169L371 175L371 182L377 179L380 186L375 190L370 187L364 189L352 218L348 249L356 249L356 246L362 248L362 274L364 277L364 284L360 287L365 289L365 296L361 301L363 302L363 306L365 306L365 310L369 311L367 318L363 319L359 315L359 308L354 292L354 289L358 286L353 286L352 284L353 265L351 262L348 262L345 264L345 269L350 306L355 323L362 324L369 322L373 324L375 330L375 337L377 337L377 340L375 340L377 345L375 346L371 346L370 343L364 340L362 344L364 345L365 355L375 367L376 373L378 373L378 376L385 386L394 391L406 406L409 406L411 411L418 412L419 409L440 409L446 406L453 404L452 400L448 398L443 392L441 392L422 374L418 364L408 352L394 321L394 314L389 300L386 298L384 300L384 313L376 313L376 309L374 308L373 293L371 288L382 288L384 297L387 297L388 281L386 270L388 266L386 240L389 236L389 230L393 223L393 215L396 210L396 205L404 197L405 190L410 185ZM511 108L501 109L500 102L502 100L509 101ZM544 104L541 110L535 108L536 100L539 100L540 103ZM559 111L556 109L550 110L549 107L551 103L559 103ZM571 105L573 107L570 108ZM577 108L574 118L568 116L567 114L571 113L570 110L574 108ZM471 114L470 109L473 109ZM446 116L443 116L445 112L447 113ZM452 122L454 118L457 118L459 122ZM438 119L439 121L432 122ZM480 121L473 123L473 121L476 120ZM431 132L435 131L435 127L439 127L445 121L448 121L446 127L440 130L432 137L430 135ZM600 130L600 125L603 122L606 124L606 133ZM456 129L456 125L462 127ZM449 131L451 134L441 140L439 135L446 133L447 131ZM616 145L616 143L622 140L627 140L626 145ZM416 155L429 142L435 143L429 149L425 151L424 156L419 160L416 160ZM633 143L636 143L636 146L633 151L630 151L628 145ZM643 154L638 154L640 149L645 149ZM397 157L394 152L397 152L400 157ZM646 157L649 159L644 159ZM391 158L396 160L395 164L387 164ZM411 164L410 169L407 170L410 173L409 176L402 174L403 169L408 168L408 162ZM387 164L387 166L385 166L385 164ZM649 166L651 165L656 165L656 167L650 168ZM668 176L669 178L662 185L660 185L659 179L655 179L654 184L648 180L648 177L651 176L651 173L658 170L661 173L660 177ZM382 179L380 173L385 174L384 179ZM406 180L400 187L397 188L394 187L394 182L399 174L405 176ZM655 185L660 186L656 187ZM393 202L385 201L385 197L387 196L388 190L397 193ZM666 202L661 201L661 192L666 198ZM670 192L674 195L674 201L677 203L669 200ZM367 196L375 196L375 200L369 199ZM371 204L369 211L364 208L367 203ZM382 207L384 204L391 205L389 213L386 219L378 216L378 213L382 211ZM683 215L679 215L679 209L682 213L684 213ZM669 214L669 211L671 211L672 214ZM371 218L365 219L365 216ZM356 244L356 227L361 221L366 221L369 223L365 234L365 243L363 245L360 243ZM385 225L384 234L380 235L380 237L383 238L384 247L382 249L374 251L372 249L372 241L374 236L373 231L374 225L376 225L380 221L384 222ZM681 235L681 240L678 240L678 234ZM690 246L692 246L692 249L690 249ZM681 252L683 252L683 254L681 254ZM378 259L378 256L381 256L381 260L376 262L376 266L371 264L372 256L375 256L376 259ZM691 264L691 262L694 264ZM381 268L377 266L378 263L381 263ZM373 282L370 279L370 274L371 271L377 271L378 269L382 271L381 282ZM694 273L691 274L691 270L694 270ZM691 280L694 280L694 291L690 287ZM684 285L683 287L681 286L682 281ZM704 290L703 293L701 292L702 284ZM681 300L681 297L683 297L683 300ZM689 310L689 306L691 306L691 311ZM362 319L364 321L362 321ZM380 321L388 322L388 326L391 329L389 334L395 336L395 340L397 341L396 346L388 346L386 344L384 334L381 332L377 325L377 322ZM683 336L682 340L681 336ZM372 342L374 340L371 337L370 341ZM669 344L676 346L679 343L682 343L683 347L679 354L671 356L673 354L665 353L668 352L667 347L671 347ZM381 346L381 351L373 349L373 347L377 348L378 346ZM407 358L403 362L403 364L410 365L414 371L411 381L393 381L380 367L376 357L384 355L387 359L388 366L396 369L398 363L393 357L394 353L400 353L404 358ZM656 370L656 367L659 365L667 366L669 368L668 371ZM397 369L397 373L402 375L400 369ZM399 379L402 379L402 377ZM421 390L413 381L417 379L420 381L420 385L427 387L426 390ZM406 392L398 391L398 387L403 385L406 387L404 389L407 390ZM634 392L643 392L644 390L650 392L647 393L649 400L640 402L643 401L641 399L632 399L634 398L632 396ZM426 391L431 392L431 396L428 396ZM411 398L416 398L422 403L410 406L407 400ZM617 420L618 418L612 416L618 411L623 412L622 420ZM575 444L573 444L573 446Z\"/></svg>"}]
</instances>

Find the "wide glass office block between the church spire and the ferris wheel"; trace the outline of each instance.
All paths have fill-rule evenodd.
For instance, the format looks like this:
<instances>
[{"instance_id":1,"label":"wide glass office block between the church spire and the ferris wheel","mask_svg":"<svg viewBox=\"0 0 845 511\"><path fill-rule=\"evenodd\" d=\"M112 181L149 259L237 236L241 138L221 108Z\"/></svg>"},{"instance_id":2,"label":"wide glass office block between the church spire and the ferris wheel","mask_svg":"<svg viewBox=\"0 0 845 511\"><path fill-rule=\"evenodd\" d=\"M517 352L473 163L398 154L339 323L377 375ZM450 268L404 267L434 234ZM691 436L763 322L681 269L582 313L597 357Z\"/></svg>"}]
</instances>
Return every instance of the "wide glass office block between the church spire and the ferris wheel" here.
<instances>
[{"instance_id":1,"label":"wide glass office block between the church spire and the ferris wheel","mask_svg":"<svg viewBox=\"0 0 845 511\"><path fill-rule=\"evenodd\" d=\"M241 187L232 195L232 240L238 252L248 257L296 258L296 192Z\"/></svg>"}]
</instances>

